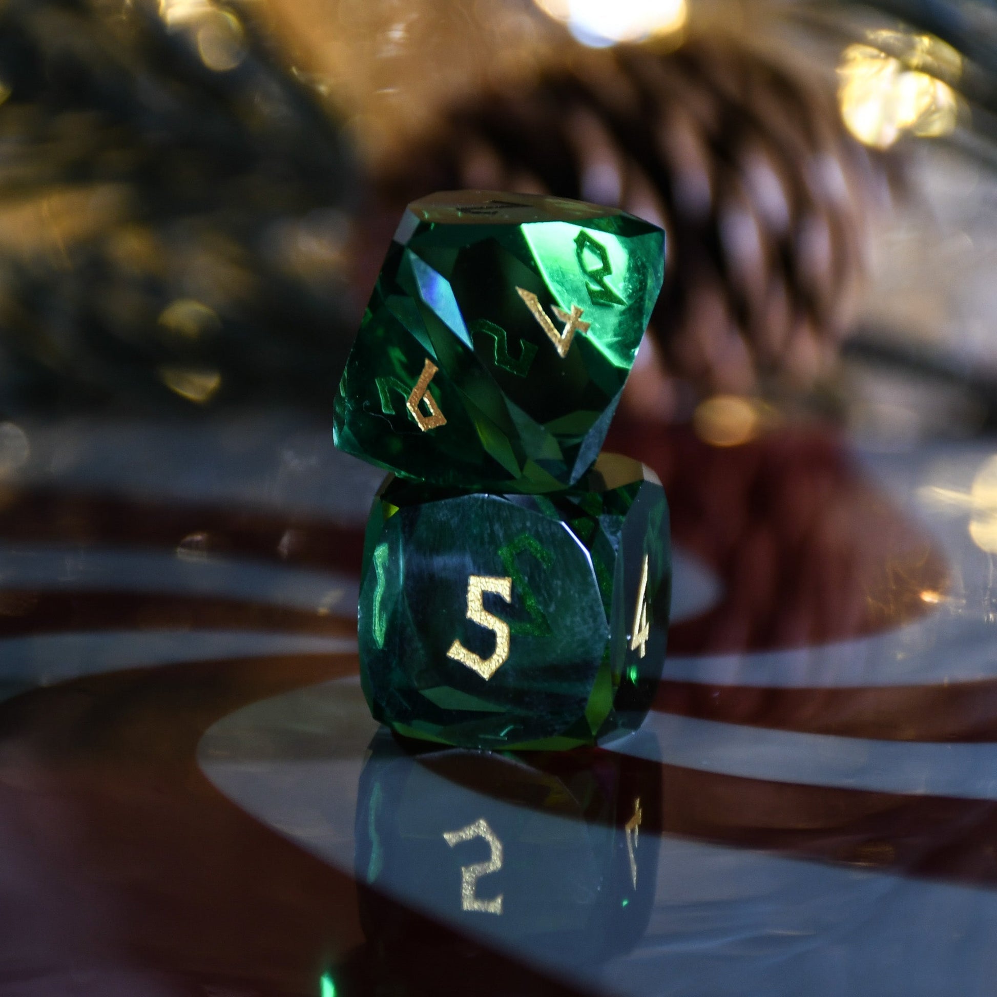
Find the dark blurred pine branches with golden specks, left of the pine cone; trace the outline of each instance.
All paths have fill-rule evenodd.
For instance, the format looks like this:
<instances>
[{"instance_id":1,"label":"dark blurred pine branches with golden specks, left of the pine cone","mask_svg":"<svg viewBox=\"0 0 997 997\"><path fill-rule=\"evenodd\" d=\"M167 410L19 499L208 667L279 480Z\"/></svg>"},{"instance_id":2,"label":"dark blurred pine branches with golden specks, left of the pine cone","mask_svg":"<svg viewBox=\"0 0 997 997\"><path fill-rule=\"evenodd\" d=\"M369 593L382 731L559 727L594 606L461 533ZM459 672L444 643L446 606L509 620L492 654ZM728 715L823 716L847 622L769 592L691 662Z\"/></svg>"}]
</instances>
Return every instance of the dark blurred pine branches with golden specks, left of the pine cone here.
<instances>
[{"instance_id":1,"label":"dark blurred pine branches with golden specks, left of the pine cone","mask_svg":"<svg viewBox=\"0 0 997 997\"><path fill-rule=\"evenodd\" d=\"M0 410L328 408L357 174L214 0L0 7Z\"/></svg>"}]
</instances>

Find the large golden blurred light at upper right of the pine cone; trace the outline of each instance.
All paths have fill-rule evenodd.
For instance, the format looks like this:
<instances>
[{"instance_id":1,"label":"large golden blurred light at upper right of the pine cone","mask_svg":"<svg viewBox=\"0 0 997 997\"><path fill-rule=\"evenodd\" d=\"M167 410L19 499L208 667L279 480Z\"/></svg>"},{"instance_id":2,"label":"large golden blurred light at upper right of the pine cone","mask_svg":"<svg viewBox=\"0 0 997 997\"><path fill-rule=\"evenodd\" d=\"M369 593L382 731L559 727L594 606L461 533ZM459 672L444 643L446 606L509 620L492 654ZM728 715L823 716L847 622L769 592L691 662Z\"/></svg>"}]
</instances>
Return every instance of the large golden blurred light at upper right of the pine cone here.
<instances>
[{"instance_id":1,"label":"large golden blurred light at upper right of the pine cone","mask_svg":"<svg viewBox=\"0 0 997 997\"><path fill-rule=\"evenodd\" d=\"M848 131L876 149L904 133L923 138L952 132L958 97L933 74L958 78L959 54L927 35L875 32L869 40L873 44L849 45L837 68L837 100Z\"/></svg>"}]
</instances>

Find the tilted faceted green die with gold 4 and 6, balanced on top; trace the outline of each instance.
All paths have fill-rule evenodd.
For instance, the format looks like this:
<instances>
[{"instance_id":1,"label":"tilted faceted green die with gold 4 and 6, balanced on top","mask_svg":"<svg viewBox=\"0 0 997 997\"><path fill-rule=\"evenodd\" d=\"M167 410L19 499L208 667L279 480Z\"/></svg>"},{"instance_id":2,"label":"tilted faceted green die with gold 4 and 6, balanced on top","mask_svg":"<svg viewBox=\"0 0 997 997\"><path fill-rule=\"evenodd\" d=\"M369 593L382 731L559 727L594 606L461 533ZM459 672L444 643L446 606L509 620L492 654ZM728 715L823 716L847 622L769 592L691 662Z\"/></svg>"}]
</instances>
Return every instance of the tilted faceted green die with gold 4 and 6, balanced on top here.
<instances>
[{"instance_id":1,"label":"tilted faceted green die with gold 4 and 6, balanced on top","mask_svg":"<svg viewBox=\"0 0 997 997\"><path fill-rule=\"evenodd\" d=\"M415 201L339 385L336 445L444 487L573 485L663 267L664 232L614 208L485 191Z\"/></svg>"}]
</instances>

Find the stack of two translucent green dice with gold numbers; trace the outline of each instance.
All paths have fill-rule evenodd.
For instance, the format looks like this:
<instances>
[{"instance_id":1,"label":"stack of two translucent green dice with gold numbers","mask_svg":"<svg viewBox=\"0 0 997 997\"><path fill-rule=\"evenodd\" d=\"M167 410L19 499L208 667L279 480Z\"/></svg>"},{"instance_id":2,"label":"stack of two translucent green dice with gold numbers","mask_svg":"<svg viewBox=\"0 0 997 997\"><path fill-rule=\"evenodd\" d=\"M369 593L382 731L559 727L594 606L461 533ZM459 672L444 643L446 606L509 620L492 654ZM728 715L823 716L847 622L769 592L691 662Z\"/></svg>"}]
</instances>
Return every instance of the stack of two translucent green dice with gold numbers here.
<instances>
[{"instance_id":1,"label":"stack of two translucent green dice with gold numbers","mask_svg":"<svg viewBox=\"0 0 997 997\"><path fill-rule=\"evenodd\" d=\"M600 454L661 289L664 232L560 197L410 204L339 386L336 445L392 472L367 525L376 720L551 750L640 726L661 678L668 508Z\"/></svg>"}]
</instances>

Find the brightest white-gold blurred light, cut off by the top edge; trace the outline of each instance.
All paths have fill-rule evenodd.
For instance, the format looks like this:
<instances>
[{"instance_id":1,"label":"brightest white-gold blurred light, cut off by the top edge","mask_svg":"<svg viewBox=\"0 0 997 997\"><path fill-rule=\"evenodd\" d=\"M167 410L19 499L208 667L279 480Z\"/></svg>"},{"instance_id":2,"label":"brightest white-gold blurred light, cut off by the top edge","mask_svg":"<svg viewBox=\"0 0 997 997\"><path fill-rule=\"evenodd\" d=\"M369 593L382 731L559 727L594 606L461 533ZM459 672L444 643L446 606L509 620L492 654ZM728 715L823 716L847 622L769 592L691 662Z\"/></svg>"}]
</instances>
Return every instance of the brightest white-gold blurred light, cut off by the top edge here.
<instances>
[{"instance_id":1,"label":"brightest white-gold blurred light, cut off by the top edge","mask_svg":"<svg viewBox=\"0 0 997 997\"><path fill-rule=\"evenodd\" d=\"M536 5L558 21L585 45L596 47L616 42L671 35L686 23L686 0L535 0Z\"/></svg>"}]
</instances>

